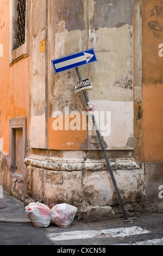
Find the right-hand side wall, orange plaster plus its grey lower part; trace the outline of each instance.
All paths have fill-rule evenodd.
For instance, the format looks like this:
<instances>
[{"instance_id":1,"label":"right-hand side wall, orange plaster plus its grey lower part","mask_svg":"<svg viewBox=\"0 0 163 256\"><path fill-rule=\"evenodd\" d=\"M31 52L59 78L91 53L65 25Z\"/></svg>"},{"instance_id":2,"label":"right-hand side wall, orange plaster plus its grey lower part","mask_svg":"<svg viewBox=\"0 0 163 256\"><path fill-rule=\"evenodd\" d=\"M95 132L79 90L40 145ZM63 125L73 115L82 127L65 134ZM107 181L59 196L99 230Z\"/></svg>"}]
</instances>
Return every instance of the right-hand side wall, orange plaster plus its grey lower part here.
<instances>
[{"instance_id":1,"label":"right-hand side wall, orange plaster plus its grey lower part","mask_svg":"<svg viewBox=\"0 0 163 256\"><path fill-rule=\"evenodd\" d=\"M163 1L142 1L142 154L148 207L162 210Z\"/></svg>"}]
</instances>

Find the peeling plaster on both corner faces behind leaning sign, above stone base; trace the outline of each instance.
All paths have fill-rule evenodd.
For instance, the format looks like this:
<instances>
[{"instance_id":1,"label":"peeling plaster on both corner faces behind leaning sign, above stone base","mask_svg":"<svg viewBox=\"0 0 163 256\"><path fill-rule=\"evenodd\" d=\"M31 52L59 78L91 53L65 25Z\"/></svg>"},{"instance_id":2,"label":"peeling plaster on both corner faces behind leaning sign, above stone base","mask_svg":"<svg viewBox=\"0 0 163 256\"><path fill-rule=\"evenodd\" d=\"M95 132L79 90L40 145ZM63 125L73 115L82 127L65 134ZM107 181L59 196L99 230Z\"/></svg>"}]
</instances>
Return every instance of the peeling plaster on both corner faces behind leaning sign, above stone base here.
<instances>
[{"instance_id":1,"label":"peeling plaster on both corner faces behind leaning sign, above stone base","mask_svg":"<svg viewBox=\"0 0 163 256\"><path fill-rule=\"evenodd\" d=\"M98 62L81 67L80 72L83 79L90 77L93 90L89 92L89 97L96 102L95 110L112 101L111 108L107 104L103 108L104 111L112 111L124 102L122 109L127 113L127 106L130 113L126 120L118 111L116 115L114 111L111 113L111 127L116 126L116 131L113 128L112 132L119 139L115 141L112 135L106 136L106 148L133 149L133 1L78 1L72 7L66 1L55 1L55 10L52 9L53 4L53 1L49 4L48 21L48 82L51 85L48 88L48 148L97 149L96 145L91 146L94 138L90 132L53 130L54 111L64 113L65 107L70 107L70 112L82 114L87 109L83 94L74 94L73 84L78 82L76 71L55 75L50 63L52 59L94 47ZM120 125L118 129L116 119L123 124L123 131ZM131 143L127 144L127 141Z\"/></svg>"}]
</instances>

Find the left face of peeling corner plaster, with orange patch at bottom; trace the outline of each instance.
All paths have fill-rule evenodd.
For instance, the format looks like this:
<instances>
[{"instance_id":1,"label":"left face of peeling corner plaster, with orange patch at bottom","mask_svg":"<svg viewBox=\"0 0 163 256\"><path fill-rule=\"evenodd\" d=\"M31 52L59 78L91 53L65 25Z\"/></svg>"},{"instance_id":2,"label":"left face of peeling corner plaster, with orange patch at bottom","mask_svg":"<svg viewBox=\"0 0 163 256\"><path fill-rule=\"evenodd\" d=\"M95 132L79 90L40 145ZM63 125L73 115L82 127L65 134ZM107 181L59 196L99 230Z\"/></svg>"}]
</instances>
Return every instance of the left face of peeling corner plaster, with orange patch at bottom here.
<instances>
[{"instance_id":1,"label":"left face of peeling corner plaster, with orange patch at bottom","mask_svg":"<svg viewBox=\"0 0 163 256\"><path fill-rule=\"evenodd\" d=\"M48 148L81 150L80 145L85 145L87 139L86 131L53 130L55 111L61 111L65 119L65 107L70 108L70 113L78 111L80 114L87 109L83 95L74 94L73 84L78 81L76 71L55 75L51 60L87 48L87 1L71 1L70 4L67 1L50 1L48 25ZM86 67L81 72L84 74Z\"/></svg>"}]
</instances>

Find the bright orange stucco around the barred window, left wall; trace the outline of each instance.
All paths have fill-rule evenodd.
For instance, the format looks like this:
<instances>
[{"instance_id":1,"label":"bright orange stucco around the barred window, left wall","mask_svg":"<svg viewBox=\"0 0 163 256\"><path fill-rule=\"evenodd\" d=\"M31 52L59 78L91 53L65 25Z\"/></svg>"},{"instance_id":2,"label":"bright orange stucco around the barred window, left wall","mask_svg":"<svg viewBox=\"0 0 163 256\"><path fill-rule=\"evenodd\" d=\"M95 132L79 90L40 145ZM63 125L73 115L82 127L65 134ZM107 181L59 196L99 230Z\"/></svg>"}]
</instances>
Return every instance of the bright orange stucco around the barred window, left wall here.
<instances>
[{"instance_id":1,"label":"bright orange stucco around the barred window, left wall","mask_svg":"<svg viewBox=\"0 0 163 256\"><path fill-rule=\"evenodd\" d=\"M29 57L22 58L10 67L9 0L0 1L0 15L0 44L3 45L3 57L0 57L0 148L4 153L9 153L9 120L27 117L28 133L30 62Z\"/></svg>"}]
</instances>

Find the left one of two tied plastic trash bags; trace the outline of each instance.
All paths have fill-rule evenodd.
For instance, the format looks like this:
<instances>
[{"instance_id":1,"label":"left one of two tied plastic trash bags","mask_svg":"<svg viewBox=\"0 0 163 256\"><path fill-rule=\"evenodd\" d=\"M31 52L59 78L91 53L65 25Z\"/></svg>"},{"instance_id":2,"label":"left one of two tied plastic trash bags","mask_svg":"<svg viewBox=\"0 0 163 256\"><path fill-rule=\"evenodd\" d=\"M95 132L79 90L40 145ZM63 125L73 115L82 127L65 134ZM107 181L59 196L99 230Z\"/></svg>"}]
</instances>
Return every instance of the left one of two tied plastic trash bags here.
<instances>
[{"instance_id":1,"label":"left one of two tied plastic trash bags","mask_svg":"<svg viewBox=\"0 0 163 256\"><path fill-rule=\"evenodd\" d=\"M29 220L37 228L47 228L52 221L51 209L45 204L30 203L25 209Z\"/></svg>"}]
</instances>

